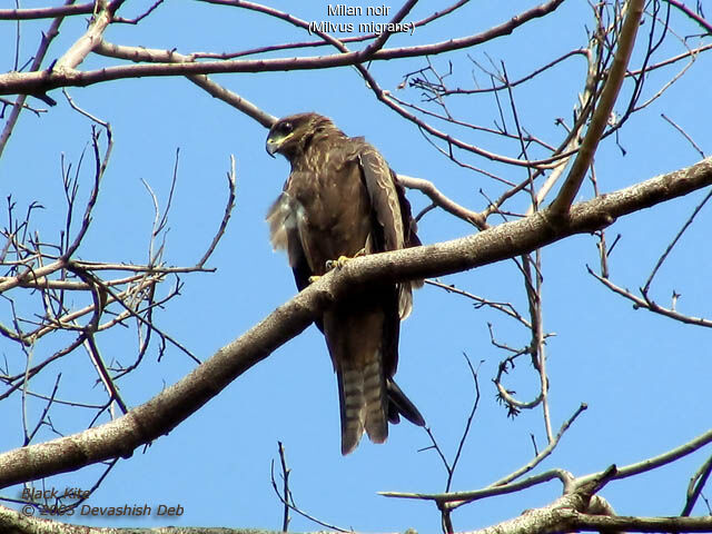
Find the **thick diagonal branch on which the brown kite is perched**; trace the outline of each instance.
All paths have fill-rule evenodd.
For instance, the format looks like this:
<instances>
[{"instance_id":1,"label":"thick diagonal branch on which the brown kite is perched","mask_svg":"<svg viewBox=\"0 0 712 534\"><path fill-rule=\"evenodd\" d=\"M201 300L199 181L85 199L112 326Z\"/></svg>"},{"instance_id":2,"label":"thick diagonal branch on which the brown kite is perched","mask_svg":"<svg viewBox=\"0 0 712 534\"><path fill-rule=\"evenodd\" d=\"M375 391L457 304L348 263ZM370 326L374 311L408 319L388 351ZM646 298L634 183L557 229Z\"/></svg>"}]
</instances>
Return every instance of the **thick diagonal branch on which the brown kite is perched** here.
<instances>
[{"instance_id":1,"label":"thick diagonal branch on which the brown kite is perched","mask_svg":"<svg viewBox=\"0 0 712 534\"><path fill-rule=\"evenodd\" d=\"M123 417L0 455L0 487L130 456L136 447L168 434L230 382L303 332L330 303L363 284L441 276L500 261L574 234L604 228L617 217L709 185L712 185L712 158L578 204L557 226L544 210L465 238L356 258L322 277L188 376Z\"/></svg>"}]
</instances>

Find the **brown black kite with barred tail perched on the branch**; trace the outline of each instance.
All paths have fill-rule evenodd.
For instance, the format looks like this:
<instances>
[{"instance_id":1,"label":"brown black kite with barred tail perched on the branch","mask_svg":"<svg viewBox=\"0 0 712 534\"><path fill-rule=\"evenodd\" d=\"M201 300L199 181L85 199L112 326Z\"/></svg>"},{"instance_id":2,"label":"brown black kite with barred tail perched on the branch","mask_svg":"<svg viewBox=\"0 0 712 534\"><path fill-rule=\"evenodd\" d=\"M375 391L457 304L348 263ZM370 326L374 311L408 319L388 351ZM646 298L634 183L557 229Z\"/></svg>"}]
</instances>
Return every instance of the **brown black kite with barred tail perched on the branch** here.
<instances>
[{"instance_id":1,"label":"brown black kite with barred tail perched on the branch","mask_svg":"<svg viewBox=\"0 0 712 534\"><path fill-rule=\"evenodd\" d=\"M267 152L285 156L291 172L267 214L271 244L284 249L299 290L343 257L421 244L411 205L383 156L363 137L347 137L330 119L299 113L275 122ZM376 284L340 299L316 320L338 380L342 454L364 434L388 437L388 421L425 421L393 380L400 320L419 283Z\"/></svg>"}]
</instances>

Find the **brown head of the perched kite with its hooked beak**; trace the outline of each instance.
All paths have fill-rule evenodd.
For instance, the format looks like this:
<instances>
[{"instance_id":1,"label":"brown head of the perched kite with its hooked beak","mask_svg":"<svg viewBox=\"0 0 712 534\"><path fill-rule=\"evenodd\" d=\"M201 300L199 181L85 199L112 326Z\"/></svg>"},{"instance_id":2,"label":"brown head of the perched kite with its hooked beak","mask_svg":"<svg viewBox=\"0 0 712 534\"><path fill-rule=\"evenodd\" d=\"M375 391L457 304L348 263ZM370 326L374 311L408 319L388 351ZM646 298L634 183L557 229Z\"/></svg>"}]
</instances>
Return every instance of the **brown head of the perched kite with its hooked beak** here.
<instances>
[{"instance_id":1,"label":"brown head of the perched kite with its hooked beak","mask_svg":"<svg viewBox=\"0 0 712 534\"><path fill-rule=\"evenodd\" d=\"M305 151L316 134L333 130L336 130L334 123L317 113L285 117L269 129L266 145L267 154L274 157L276 152L279 152L291 161L296 155Z\"/></svg>"}]
</instances>

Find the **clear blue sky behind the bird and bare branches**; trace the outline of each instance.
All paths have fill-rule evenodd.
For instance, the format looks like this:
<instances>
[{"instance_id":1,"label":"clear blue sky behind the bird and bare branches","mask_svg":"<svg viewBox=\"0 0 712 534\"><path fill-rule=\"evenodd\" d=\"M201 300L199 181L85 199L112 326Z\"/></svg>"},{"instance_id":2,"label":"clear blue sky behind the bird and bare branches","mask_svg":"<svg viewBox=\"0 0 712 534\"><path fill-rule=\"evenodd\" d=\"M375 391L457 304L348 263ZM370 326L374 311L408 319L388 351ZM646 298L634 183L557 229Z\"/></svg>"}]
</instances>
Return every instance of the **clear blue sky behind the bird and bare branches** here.
<instances>
[{"instance_id":1,"label":"clear blue sky behind the bird and bare branches","mask_svg":"<svg viewBox=\"0 0 712 534\"><path fill-rule=\"evenodd\" d=\"M526 2L533 6L534 2ZM0 2L0 8L13 3ZM305 20L326 18L326 4L275 2L294 9ZM394 4L394 9L397 4ZM128 3L125 17L140 12L141 2ZM433 10L417 6L407 20L417 20ZM433 42L482 31L508 20L516 11L500 2L473 2L452 18L416 30L415 36L397 36L389 46ZM517 6L516 9L525 9ZM540 19L484 47L433 57L442 72L452 61L453 86L472 87L488 80L476 71L467 53L486 63L487 56L506 62L511 78L518 78L554 57L586 44L585 27L592 20L583 2L564 2L551 18ZM647 19L650 20L650 19ZM187 22L190 21L190 22ZM681 34L699 32L679 13L673 21ZM46 22L28 22L22 28L21 57L34 49L39 29ZM53 59L73 42L85 27L82 18L67 21L50 53ZM0 22L0 49L14 42L14 26ZM641 29L641 42L646 27ZM243 10L178 2L161 6L137 27L111 27L111 42L169 49L180 52L231 51L273 42L305 39L284 22L268 20ZM691 39L689 44L696 42ZM323 49L319 53L326 53ZM673 40L655 58L680 53ZM633 63L640 62L636 48ZM290 53L290 52L289 52ZM312 53L312 52L307 52ZM273 57L280 57L273 53ZM12 67L6 55L3 69ZM639 62L635 62L639 61ZM90 58L82 68L110 65L112 60ZM372 71L382 87L394 90L403 75L423 68L423 60L374 63ZM682 63L651 75L645 95L652 96ZM657 174L691 165L700 159L690 145L661 118L661 113L683 126L703 150L710 151L709 123L712 111L700 102L709 89L710 59L702 55L688 73L656 102L635 115L623 128L620 142L604 140L596 155L599 187L616 190ZM570 120L576 91L585 75L582 59L572 59L557 70L515 90L520 120L526 128L556 144L563 138L554 119ZM481 210L486 199L496 198L502 187L482 175L459 168L438 155L418 130L378 103L353 68L330 71L274 72L268 75L221 75L215 81L238 92L275 116L315 110L327 115L348 135L366 136L390 166L409 176L433 180L458 202ZM623 95L630 88L624 87ZM165 207L175 161L180 148L178 181L169 216L170 231L166 260L191 265L202 255L222 216L227 195L225 174L229 156L237 161L237 206L228 230L209 261L215 274L182 276L181 296L161 310L157 324L205 359L216 349L246 332L276 306L295 294L287 260L270 249L264 216L288 174L284 158L273 160L265 151L266 130L185 79L144 78L70 89L78 105L108 120L113 129L115 150L107 171L95 219L78 256L82 259L144 263L154 219L151 199L141 184L146 180ZM416 89L396 93L418 102ZM90 136L90 123L73 112L59 91L58 106L41 117L26 112L0 160L0 198L12 195L22 211L32 200L44 209L32 219L32 228L46 239L56 238L63 225L60 155L77 165ZM32 103L38 103L32 101ZM44 105L41 105L44 107ZM464 119L492 125L498 120L491 96L456 97L452 109ZM621 111L616 107L617 111ZM506 111L506 110L505 110ZM508 126L512 126L507 113ZM437 125L438 127L445 127ZM459 131L459 134L463 134ZM468 135L468 134L467 134ZM488 150L516 156L516 147L483 135L467 140ZM463 155L461 155L463 156ZM472 165L500 172L513 181L524 179L523 169L503 168L463 156ZM92 169L81 171L80 198L86 199ZM590 185L578 200L592 195ZM631 289L642 286L657 257L674 237L704 191L617 221L609 230L609 243L621 234L611 258L612 279ZM417 191L408 194L419 208L427 201ZM511 209L524 209L525 199ZM685 234L662 269L652 295L662 304L672 290L682 294L679 309L709 316L712 263L706 246L711 222L709 207ZM495 218L491 222L496 222ZM437 243L471 234L473 228L444 212L431 212L421 224L424 243ZM585 402L589 409L566 433L558 448L537 471L552 467L574 475L602 471L610 464L639 462L678 446L710 427L709 332L634 310L630 303L612 295L586 274L597 266L595 240L576 236L543 251L545 329L555 333L547 342L551 380L552 424L555 429ZM477 295L510 301L526 312L521 276L512 261L443 278ZM164 289L168 290L168 287ZM19 298L19 291L11 295ZM26 297L37 299L37 296ZM77 305L83 303L79 297ZM31 306L28 309L37 309ZM7 322L9 308L0 308ZM495 402L492 378L503 358L490 343L487 323L497 338L518 346L528 342L527 332L512 319L488 309L475 309L463 297L426 286L415 296L414 313L402 327L398 383L423 412L444 452L452 459L473 402L473 384L463 353L478 368L482 399L475 416L453 490L475 490L508 474L533 456L534 436L540 449L545 445L541 409L523 413L514 421ZM131 362L135 337L112 332L98 337L106 359ZM34 347L42 358L57 347L43 340ZM14 368L23 355L4 338L2 357ZM137 373L120 382L123 398L136 406L166 385L181 378L192 363L169 348L161 362L156 349ZM56 374L62 373L62 394L68 399L99 402L103 393L95 386L96 375L86 357L77 352L38 377L32 387L51 390ZM506 385L522 399L537 393L537 376L520 360ZM336 379L326 345L310 327L263 363L255 366L187 419L170 435L157 439L146 451L122 459L89 500L92 506L180 504L185 513L164 520L151 516L129 523L111 518L75 517L77 523L125 525L205 525L279 528L281 505L270 484L270 462L276 461L277 441L287 451L291 468L291 491L297 504L310 514L359 531L418 531L439 528L434 506L412 501L388 500L378 491L439 492L445 472L425 432L407 423L392 427L386 445L364 441L350 456L342 457ZM37 417L43 405L30 403ZM19 397L0 403L2 451L20 444ZM65 434L86 427L91 415L58 408L52 419ZM49 432L40 439L49 439ZM621 514L674 515L684 503L690 476L705 459L698 453L674 466L629 481L615 482L602 494ZM48 479L48 486L88 488L97 466ZM455 527L476 528L518 515L560 495L556 484L524 493L487 500L454 514ZM17 497L18 487L3 496ZM705 510L698 507L698 513ZM313 523L293 514L290 530L315 530Z\"/></svg>"}]
</instances>

